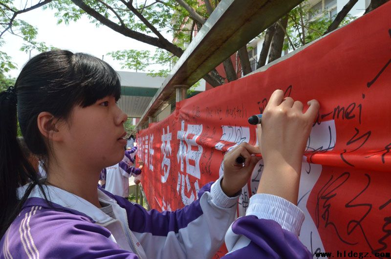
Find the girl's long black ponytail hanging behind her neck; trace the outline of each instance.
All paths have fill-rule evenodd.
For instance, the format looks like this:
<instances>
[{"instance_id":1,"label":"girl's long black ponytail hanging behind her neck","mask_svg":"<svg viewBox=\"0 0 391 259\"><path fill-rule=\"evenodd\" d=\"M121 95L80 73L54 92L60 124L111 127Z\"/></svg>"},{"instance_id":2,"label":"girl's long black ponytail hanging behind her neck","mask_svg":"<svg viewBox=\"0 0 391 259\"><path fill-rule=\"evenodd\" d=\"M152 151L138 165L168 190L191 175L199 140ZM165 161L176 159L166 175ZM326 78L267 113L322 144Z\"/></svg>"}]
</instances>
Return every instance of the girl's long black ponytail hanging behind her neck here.
<instances>
[{"instance_id":1,"label":"girl's long black ponytail hanging behind her neck","mask_svg":"<svg viewBox=\"0 0 391 259\"><path fill-rule=\"evenodd\" d=\"M16 189L37 176L17 140L17 93L14 86L0 93L0 238L20 201Z\"/></svg>"}]
</instances>

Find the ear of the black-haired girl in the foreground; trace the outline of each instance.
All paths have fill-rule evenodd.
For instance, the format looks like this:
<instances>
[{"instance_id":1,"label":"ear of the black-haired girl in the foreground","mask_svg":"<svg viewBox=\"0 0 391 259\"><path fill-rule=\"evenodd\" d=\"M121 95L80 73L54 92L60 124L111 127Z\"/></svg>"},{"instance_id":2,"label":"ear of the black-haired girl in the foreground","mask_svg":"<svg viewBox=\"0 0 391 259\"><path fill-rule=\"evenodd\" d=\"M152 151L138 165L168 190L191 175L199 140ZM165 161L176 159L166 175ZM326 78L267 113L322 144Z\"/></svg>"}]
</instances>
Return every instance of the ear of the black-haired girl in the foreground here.
<instances>
[{"instance_id":1,"label":"ear of the black-haired girl in the foreground","mask_svg":"<svg viewBox=\"0 0 391 259\"><path fill-rule=\"evenodd\" d=\"M59 120L50 112L43 111L38 114L37 123L38 129L45 138L53 141L62 140L62 132L59 127L60 125L56 125L56 123L59 123Z\"/></svg>"}]
</instances>

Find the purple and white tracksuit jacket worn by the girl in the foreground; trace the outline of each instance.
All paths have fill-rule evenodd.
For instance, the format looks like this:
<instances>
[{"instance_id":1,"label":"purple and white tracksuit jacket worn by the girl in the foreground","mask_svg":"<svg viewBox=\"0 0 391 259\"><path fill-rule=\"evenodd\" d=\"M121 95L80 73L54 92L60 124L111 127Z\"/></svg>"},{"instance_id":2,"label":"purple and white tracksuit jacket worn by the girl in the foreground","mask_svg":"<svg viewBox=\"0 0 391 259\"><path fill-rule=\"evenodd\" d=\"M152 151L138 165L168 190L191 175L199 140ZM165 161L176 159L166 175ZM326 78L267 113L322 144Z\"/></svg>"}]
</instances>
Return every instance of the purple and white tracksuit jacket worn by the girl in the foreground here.
<instances>
[{"instance_id":1,"label":"purple and white tracksuit jacket worn by the girl in the foreground","mask_svg":"<svg viewBox=\"0 0 391 259\"><path fill-rule=\"evenodd\" d=\"M235 219L238 197L227 197L221 178L198 199L175 212L146 211L98 189L115 218L88 201L44 186L49 206L35 187L0 241L0 259L209 259L224 240L224 259L312 258L299 241L303 212L281 197L256 194L247 216ZM18 192L21 196L26 186Z\"/></svg>"}]
</instances>

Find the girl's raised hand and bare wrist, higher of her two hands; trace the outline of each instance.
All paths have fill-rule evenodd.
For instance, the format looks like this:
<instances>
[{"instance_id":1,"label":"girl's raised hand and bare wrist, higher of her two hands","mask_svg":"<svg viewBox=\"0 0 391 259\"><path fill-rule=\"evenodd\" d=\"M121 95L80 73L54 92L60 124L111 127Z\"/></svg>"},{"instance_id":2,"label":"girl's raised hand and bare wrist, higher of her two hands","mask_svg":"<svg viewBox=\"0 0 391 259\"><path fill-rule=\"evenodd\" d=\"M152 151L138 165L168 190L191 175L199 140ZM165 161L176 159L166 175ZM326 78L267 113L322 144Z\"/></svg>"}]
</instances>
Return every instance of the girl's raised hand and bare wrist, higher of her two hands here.
<instances>
[{"instance_id":1,"label":"girl's raised hand and bare wrist, higher of her two hands","mask_svg":"<svg viewBox=\"0 0 391 259\"><path fill-rule=\"evenodd\" d=\"M303 104L282 90L273 92L258 125L258 142L264 169L258 193L274 194L297 204L302 157L319 103L311 100L303 113Z\"/></svg>"}]
</instances>

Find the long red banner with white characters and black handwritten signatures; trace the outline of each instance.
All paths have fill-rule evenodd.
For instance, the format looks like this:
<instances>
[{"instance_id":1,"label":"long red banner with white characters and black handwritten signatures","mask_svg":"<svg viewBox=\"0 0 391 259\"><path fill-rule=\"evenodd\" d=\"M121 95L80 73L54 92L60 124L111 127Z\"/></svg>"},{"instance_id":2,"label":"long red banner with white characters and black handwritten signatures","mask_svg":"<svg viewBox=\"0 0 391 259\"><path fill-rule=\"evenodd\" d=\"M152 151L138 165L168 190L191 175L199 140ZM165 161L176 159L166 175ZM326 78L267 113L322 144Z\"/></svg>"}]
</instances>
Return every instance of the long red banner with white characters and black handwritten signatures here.
<instances>
[{"instance_id":1,"label":"long red banner with white characters and black handwritten signatures","mask_svg":"<svg viewBox=\"0 0 391 259\"><path fill-rule=\"evenodd\" d=\"M152 208L175 210L222 173L223 154L256 144L247 118L275 89L321 104L303 159L300 239L315 252L391 252L391 2L266 71L176 104L138 135ZM262 160L239 198L244 215Z\"/></svg>"}]
</instances>

